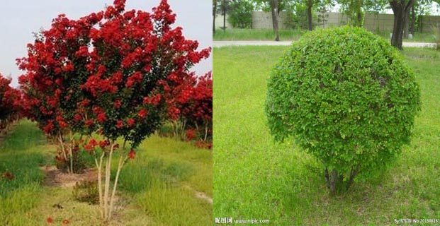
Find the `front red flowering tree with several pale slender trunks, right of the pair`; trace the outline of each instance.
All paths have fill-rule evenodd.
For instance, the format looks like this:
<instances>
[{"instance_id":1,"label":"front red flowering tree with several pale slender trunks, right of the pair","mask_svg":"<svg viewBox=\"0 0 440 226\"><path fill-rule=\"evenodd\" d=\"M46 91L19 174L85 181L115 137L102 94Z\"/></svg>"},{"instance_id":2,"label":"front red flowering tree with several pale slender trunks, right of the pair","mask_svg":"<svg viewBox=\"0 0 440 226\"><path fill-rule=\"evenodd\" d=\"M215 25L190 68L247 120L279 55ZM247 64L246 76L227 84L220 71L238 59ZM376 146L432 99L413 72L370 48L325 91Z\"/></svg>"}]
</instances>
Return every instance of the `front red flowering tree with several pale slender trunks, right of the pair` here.
<instances>
[{"instance_id":1,"label":"front red flowering tree with several pale slender trunks, right of the pair","mask_svg":"<svg viewBox=\"0 0 440 226\"><path fill-rule=\"evenodd\" d=\"M198 42L186 40L180 27L171 28L176 15L167 1L161 1L151 14L124 8L125 1L116 0L106 8L98 27L91 28L92 48L86 66L91 76L81 85L90 101L94 124L108 144L101 145L105 151L96 161L100 167L106 157L102 199L107 219L111 217L120 169L127 159L122 154L124 150L120 150L110 196L111 156L118 148L116 139L130 143L128 157L134 157L134 148L146 136L179 114L172 94L191 80L188 69L210 53L210 49L198 52Z\"/></svg>"}]
</instances>

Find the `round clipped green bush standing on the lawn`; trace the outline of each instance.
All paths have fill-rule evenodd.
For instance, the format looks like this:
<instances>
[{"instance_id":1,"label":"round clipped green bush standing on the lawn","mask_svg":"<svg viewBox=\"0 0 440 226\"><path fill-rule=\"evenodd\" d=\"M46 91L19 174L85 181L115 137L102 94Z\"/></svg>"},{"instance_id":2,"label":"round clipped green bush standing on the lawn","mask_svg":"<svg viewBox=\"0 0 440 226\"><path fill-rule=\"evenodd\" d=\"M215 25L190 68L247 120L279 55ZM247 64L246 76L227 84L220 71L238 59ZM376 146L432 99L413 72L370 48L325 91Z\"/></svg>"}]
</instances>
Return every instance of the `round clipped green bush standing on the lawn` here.
<instances>
[{"instance_id":1,"label":"round clipped green bush standing on the lawn","mask_svg":"<svg viewBox=\"0 0 440 226\"><path fill-rule=\"evenodd\" d=\"M419 85L387 40L361 28L317 29L273 68L265 112L276 141L323 164L332 194L380 169L409 143Z\"/></svg>"}]
</instances>

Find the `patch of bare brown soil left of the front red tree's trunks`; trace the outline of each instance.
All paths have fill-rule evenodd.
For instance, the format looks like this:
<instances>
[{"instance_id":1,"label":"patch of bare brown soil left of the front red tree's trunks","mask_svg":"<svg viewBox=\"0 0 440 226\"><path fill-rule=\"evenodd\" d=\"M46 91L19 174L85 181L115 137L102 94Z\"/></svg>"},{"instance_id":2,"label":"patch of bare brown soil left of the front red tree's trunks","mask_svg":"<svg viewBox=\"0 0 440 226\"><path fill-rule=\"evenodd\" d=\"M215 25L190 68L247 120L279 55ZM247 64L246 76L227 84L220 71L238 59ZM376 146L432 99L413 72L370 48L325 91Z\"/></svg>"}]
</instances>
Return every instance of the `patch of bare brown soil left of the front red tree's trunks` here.
<instances>
[{"instance_id":1,"label":"patch of bare brown soil left of the front red tree's trunks","mask_svg":"<svg viewBox=\"0 0 440 226\"><path fill-rule=\"evenodd\" d=\"M77 182L84 180L96 180L98 178L98 172L96 169L86 169L82 174L69 174L61 172L55 166L40 167L45 172L46 186L60 186L60 187L73 187Z\"/></svg>"}]
</instances>

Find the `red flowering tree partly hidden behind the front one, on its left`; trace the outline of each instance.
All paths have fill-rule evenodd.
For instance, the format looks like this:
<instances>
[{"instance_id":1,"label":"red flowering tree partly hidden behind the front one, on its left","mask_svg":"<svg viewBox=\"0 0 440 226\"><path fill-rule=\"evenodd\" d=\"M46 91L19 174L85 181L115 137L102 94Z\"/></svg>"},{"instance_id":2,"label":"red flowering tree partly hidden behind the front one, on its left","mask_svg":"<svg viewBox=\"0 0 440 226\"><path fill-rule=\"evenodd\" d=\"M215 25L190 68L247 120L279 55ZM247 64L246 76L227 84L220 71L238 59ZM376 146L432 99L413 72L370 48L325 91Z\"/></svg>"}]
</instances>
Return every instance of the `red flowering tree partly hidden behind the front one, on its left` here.
<instances>
[{"instance_id":1,"label":"red flowering tree partly hidden behind the front one, on its left","mask_svg":"<svg viewBox=\"0 0 440 226\"><path fill-rule=\"evenodd\" d=\"M61 14L52 21L49 30L35 35L35 42L28 44L28 57L17 60L20 69L27 72L19 78L26 94L27 116L37 121L47 135L57 137L63 155L57 157L70 160L69 172L74 172L72 131L88 134L93 131L78 123L81 120L76 120L79 118L76 114L82 109L81 105L78 107L83 96L79 85L88 78L85 65L89 59L81 51L90 42L91 27L101 18L102 14L92 13L79 20L69 20ZM67 147L64 131L71 132Z\"/></svg>"}]
</instances>

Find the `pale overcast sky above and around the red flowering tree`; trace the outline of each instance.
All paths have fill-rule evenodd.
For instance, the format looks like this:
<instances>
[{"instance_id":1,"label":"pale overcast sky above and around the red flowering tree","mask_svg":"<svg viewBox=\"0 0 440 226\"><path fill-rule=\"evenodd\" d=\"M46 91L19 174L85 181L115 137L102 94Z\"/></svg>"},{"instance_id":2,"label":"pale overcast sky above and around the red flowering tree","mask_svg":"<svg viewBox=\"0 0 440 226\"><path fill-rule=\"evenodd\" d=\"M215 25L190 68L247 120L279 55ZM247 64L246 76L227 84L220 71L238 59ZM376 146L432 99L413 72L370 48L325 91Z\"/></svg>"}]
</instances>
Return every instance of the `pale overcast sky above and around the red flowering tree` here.
<instances>
[{"instance_id":1,"label":"pale overcast sky above and around the red flowering tree","mask_svg":"<svg viewBox=\"0 0 440 226\"><path fill-rule=\"evenodd\" d=\"M126 10L132 8L151 11L160 0L127 0ZM33 42L32 32L50 28L53 18L60 13L77 19L91 12L100 11L113 0L3 0L0 7L0 73L12 75L13 86L23 72L18 70L16 59L26 57L26 44ZM212 1L168 0L176 13L175 25L184 28L187 39L198 40L199 49L212 46ZM212 57L202 61L194 70L197 74L212 71Z\"/></svg>"}]
</instances>

